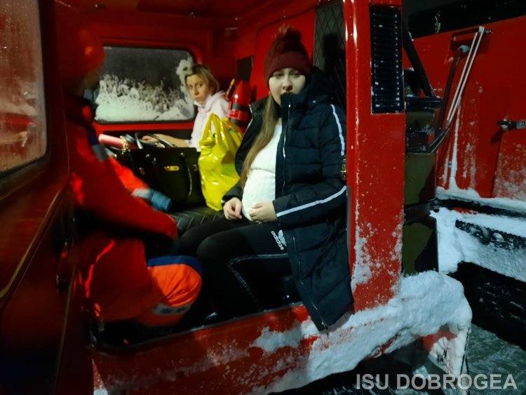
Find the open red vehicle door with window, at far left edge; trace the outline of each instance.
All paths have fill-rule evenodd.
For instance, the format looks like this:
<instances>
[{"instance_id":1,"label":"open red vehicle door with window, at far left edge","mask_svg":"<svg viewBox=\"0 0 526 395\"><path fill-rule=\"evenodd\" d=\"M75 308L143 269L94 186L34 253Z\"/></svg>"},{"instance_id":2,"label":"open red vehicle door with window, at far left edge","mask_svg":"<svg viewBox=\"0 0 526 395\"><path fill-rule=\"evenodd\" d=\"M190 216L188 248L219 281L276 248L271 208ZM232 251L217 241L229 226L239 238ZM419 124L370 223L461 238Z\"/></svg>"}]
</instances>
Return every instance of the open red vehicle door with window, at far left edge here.
<instances>
[{"instance_id":1,"label":"open red vehicle door with window, at far left edge","mask_svg":"<svg viewBox=\"0 0 526 395\"><path fill-rule=\"evenodd\" d=\"M54 28L52 1L0 2L2 394L90 390Z\"/></svg>"}]
</instances>

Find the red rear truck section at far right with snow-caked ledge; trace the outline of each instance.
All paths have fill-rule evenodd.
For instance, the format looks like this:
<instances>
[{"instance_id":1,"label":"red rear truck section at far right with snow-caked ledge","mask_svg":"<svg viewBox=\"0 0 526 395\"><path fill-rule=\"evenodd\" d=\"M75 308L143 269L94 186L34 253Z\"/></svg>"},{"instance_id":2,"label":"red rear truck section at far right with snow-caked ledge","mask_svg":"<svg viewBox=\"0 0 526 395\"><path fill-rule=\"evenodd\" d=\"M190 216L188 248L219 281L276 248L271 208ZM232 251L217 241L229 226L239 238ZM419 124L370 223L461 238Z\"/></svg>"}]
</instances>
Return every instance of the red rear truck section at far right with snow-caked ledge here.
<instances>
[{"instance_id":1,"label":"red rear truck section at far right with snow-caked ledge","mask_svg":"<svg viewBox=\"0 0 526 395\"><path fill-rule=\"evenodd\" d=\"M450 1L410 16L433 88L445 98L450 86L450 108L460 98L438 150L440 271L456 272L475 323L525 348L526 81L524 54L511 50L522 46L525 8L478 6Z\"/></svg>"}]
</instances>

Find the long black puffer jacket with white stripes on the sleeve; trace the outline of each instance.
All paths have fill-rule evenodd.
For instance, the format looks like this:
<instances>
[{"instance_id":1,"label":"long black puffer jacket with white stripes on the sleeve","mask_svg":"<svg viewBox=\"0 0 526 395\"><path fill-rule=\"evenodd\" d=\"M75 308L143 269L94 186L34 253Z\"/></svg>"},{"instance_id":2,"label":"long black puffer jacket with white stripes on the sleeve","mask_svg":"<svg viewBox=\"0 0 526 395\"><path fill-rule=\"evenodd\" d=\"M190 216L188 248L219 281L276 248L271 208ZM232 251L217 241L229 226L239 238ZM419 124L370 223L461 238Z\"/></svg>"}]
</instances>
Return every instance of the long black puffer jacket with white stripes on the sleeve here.
<instances>
[{"instance_id":1,"label":"long black puffer jacket with white stripes on the sleeve","mask_svg":"<svg viewBox=\"0 0 526 395\"><path fill-rule=\"evenodd\" d=\"M346 186L340 178L346 121L329 102L329 83L315 72L297 95L281 96L283 131L276 154L274 209L297 288L318 329L335 323L353 302L346 246ZM262 101L236 155L241 166L262 126ZM237 185L224 196L241 199Z\"/></svg>"}]
</instances>

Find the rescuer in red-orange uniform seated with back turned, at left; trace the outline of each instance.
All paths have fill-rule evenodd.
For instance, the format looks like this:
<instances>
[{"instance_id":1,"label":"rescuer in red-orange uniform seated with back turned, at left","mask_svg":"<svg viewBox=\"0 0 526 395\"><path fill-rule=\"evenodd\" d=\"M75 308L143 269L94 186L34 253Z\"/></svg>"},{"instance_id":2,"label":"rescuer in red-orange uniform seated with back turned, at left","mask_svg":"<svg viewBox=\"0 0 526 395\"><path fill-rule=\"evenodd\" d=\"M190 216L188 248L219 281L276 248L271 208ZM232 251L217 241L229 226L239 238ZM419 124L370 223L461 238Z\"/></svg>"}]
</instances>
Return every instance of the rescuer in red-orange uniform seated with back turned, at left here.
<instances>
[{"instance_id":1,"label":"rescuer in red-orange uniform seated with back turned, at left","mask_svg":"<svg viewBox=\"0 0 526 395\"><path fill-rule=\"evenodd\" d=\"M99 83L104 48L73 8L55 1L55 11L71 184L80 218L88 218L79 221L86 297L102 322L173 325L201 289L200 264L193 257L147 255L144 241L170 243L176 223L133 196L109 162L83 99Z\"/></svg>"}]
</instances>

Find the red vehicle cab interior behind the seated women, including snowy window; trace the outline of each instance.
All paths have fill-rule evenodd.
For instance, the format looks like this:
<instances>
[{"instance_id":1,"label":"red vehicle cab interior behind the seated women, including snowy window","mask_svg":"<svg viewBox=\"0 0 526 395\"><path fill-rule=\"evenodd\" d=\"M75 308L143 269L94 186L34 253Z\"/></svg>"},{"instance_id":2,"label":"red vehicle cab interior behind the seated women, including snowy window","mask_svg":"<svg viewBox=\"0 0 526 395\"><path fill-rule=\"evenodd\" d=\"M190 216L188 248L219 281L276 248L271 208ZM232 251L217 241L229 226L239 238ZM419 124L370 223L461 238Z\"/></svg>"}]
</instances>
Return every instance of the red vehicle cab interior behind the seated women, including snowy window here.
<instances>
[{"instance_id":1,"label":"red vehicle cab interior behind the seated women, including snowy window","mask_svg":"<svg viewBox=\"0 0 526 395\"><path fill-rule=\"evenodd\" d=\"M156 133L188 140L196 107L185 86L185 73L196 63L208 65L224 91L236 91L236 86L245 83L248 89L245 88L245 102L241 103L245 107L266 97L269 88L262 78L266 55L263 48L269 48L283 18L302 31L313 65L330 76L335 85L333 102L346 104L342 4L298 2L288 7L284 15L277 3L76 3L72 5L99 34L106 53L95 100L94 127L100 135L124 136L130 144L134 138L140 140L142 135ZM261 18L260 8L271 10L267 18ZM108 148L110 155L121 155L120 148ZM140 177L140 173L136 175ZM187 229L222 217L223 213L201 203L176 206L170 215L177 221L181 236ZM257 273L243 276L257 278ZM257 306L255 312L300 300L292 275L250 283L250 288L255 288L250 289ZM177 331L202 323L182 323ZM107 323L102 332L95 326L92 335L95 341L129 347L134 342L129 330L126 322Z\"/></svg>"}]
</instances>

